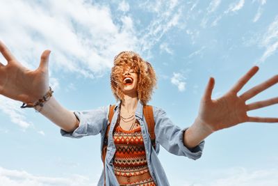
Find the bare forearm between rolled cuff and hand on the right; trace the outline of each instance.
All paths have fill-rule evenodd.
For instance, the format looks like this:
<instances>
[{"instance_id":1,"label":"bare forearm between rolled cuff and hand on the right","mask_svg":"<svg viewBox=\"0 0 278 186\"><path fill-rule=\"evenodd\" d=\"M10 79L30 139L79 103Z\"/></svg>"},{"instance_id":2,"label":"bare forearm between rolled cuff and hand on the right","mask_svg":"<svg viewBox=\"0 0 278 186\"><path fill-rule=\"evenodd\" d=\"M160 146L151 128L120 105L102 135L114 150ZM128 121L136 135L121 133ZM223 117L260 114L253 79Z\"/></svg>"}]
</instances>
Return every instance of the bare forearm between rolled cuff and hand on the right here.
<instances>
[{"instance_id":1,"label":"bare forearm between rolled cuff and hand on the right","mask_svg":"<svg viewBox=\"0 0 278 186\"><path fill-rule=\"evenodd\" d=\"M183 134L183 145L187 148L194 148L211 133L213 131L209 127L206 127L199 118L196 118L193 125Z\"/></svg>"}]
</instances>

